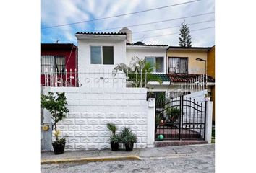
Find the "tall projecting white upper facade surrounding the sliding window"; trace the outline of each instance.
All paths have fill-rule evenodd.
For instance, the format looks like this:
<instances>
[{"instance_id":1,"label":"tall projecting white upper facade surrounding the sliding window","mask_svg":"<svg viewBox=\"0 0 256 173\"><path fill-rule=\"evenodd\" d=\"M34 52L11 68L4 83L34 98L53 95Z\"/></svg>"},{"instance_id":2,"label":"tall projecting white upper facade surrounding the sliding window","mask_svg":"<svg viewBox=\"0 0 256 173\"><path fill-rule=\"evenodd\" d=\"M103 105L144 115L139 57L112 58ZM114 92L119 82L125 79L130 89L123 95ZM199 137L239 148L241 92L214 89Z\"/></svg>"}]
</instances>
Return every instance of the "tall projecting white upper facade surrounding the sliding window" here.
<instances>
[{"instance_id":1,"label":"tall projecting white upper facade surrounding the sliding window","mask_svg":"<svg viewBox=\"0 0 256 173\"><path fill-rule=\"evenodd\" d=\"M111 72L118 63L126 62L126 35L83 35L77 34L78 78L85 87L125 87L124 74L114 79ZM113 64L92 64L91 46L113 46ZM124 79L124 82L123 82Z\"/></svg>"}]
</instances>

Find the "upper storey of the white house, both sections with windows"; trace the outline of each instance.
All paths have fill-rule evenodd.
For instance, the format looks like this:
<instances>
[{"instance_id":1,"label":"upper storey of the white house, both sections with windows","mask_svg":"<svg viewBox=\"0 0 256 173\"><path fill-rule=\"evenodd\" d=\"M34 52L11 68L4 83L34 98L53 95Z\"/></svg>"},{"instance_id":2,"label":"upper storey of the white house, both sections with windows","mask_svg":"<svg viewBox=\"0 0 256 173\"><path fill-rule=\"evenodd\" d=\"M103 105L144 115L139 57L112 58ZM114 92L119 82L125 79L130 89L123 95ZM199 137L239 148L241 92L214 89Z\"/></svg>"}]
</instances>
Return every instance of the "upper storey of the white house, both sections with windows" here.
<instances>
[{"instance_id":1,"label":"upper storey of the white house, both sections with windows","mask_svg":"<svg viewBox=\"0 0 256 173\"><path fill-rule=\"evenodd\" d=\"M77 32L78 78L81 86L125 87L126 78L119 73L115 78L111 72L119 63L129 64L132 57L158 63L155 74L167 71L166 49L168 45L145 45L132 43L132 31L124 27L119 32Z\"/></svg>"}]
</instances>

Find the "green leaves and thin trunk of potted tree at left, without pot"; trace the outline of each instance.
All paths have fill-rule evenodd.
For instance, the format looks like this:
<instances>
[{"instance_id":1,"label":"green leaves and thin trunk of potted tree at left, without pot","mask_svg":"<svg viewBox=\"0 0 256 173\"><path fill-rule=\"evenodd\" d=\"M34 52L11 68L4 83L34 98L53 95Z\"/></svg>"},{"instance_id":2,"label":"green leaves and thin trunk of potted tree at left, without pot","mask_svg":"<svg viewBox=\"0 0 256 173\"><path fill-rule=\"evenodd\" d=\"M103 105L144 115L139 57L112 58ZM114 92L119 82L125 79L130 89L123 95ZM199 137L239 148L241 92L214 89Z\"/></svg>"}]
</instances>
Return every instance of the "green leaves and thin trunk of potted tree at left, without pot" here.
<instances>
[{"instance_id":1,"label":"green leaves and thin trunk of potted tree at left, without pot","mask_svg":"<svg viewBox=\"0 0 256 173\"><path fill-rule=\"evenodd\" d=\"M69 112L67 109L67 98L65 93L56 93L57 97L54 96L53 92L48 92L48 95L41 96L41 107L45 108L51 113L51 119L54 120L54 130L58 133L57 125L60 120L66 117L66 113ZM58 135L56 135L58 141Z\"/></svg>"}]
</instances>

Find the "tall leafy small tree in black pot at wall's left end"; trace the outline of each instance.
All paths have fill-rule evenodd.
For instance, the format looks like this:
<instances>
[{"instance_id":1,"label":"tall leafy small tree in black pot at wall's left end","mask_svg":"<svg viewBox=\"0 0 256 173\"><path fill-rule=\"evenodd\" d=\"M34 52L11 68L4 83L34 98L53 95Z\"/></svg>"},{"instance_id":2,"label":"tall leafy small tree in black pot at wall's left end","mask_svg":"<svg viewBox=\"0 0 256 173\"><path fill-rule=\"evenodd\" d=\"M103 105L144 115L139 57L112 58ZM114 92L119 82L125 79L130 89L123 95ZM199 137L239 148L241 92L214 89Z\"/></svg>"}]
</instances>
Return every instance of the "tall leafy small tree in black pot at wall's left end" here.
<instances>
[{"instance_id":1,"label":"tall leafy small tree in black pot at wall's left end","mask_svg":"<svg viewBox=\"0 0 256 173\"><path fill-rule=\"evenodd\" d=\"M61 136L60 130L57 129L57 123L66 117L66 113L69 112L67 109L67 98L65 93L56 93L57 97L54 96L53 92L48 92L48 95L41 96L41 107L45 108L51 113L51 119L54 122L54 136L56 141L52 143L54 148L54 154L63 154L66 144L65 138L59 138Z\"/></svg>"}]
</instances>

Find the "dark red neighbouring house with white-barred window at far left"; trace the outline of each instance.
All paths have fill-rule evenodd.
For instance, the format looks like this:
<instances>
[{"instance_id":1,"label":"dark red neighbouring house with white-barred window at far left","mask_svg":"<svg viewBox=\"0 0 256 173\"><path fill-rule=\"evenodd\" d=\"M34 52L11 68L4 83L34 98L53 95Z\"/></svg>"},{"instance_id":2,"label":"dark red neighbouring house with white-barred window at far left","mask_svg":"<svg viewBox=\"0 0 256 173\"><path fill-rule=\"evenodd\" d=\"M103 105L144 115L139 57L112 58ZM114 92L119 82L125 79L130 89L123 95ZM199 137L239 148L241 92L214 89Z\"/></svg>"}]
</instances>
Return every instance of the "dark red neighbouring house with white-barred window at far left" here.
<instances>
[{"instance_id":1,"label":"dark red neighbouring house with white-barred window at far left","mask_svg":"<svg viewBox=\"0 0 256 173\"><path fill-rule=\"evenodd\" d=\"M41 84L43 86L59 85L58 81L51 80L53 77L49 74L54 74L59 79L60 76L62 77L64 74L67 74L69 78L71 76L70 71L74 72L76 69L77 46L72 43L41 44ZM74 80L71 80L69 83L74 86L74 82Z\"/></svg>"}]
</instances>

